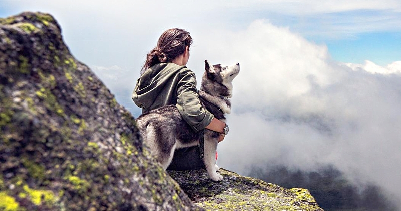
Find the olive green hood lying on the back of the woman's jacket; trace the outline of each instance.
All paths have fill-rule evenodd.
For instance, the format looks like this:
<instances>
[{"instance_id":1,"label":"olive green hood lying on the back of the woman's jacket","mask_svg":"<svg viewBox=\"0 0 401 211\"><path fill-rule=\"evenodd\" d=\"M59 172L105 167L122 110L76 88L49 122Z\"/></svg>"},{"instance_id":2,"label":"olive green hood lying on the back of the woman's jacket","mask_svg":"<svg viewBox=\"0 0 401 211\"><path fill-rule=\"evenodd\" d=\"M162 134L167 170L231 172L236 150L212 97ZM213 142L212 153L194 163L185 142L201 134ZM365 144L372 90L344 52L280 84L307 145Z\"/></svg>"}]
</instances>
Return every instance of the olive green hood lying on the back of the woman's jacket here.
<instances>
[{"instance_id":1,"label":"olive green hood lying on the back of the woman's jacket","mask_svg":"<svg viewBox=\"0 0 401 211\"><path fill-rule=\"evenodd\" d=\"M169 79L182 68L186 67L174 63L161 63L147 69L136 81L135 90L132 93L135 104L142 109L149 108Z\"/></svg>"}]
</instances>

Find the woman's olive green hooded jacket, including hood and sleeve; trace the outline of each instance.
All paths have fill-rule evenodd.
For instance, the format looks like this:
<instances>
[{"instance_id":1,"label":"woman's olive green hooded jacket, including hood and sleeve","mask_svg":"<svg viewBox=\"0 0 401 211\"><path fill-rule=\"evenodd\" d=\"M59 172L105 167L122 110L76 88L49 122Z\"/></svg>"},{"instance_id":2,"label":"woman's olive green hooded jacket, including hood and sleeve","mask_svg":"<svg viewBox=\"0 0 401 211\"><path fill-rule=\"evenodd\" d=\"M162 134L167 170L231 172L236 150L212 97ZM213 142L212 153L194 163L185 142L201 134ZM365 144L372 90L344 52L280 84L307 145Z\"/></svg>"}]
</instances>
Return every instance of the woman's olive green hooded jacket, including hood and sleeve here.
<instances>
[{"instance_id":1,"label":"woman's olive green hooded jacket, including hood and sleeve","mask_svg":"<svg viewBox=\"0 0 401 211\"><path fill-rule=\"evenodd\" d=\"M155 64L146 70L136 81L132 99L142 113L175 104L195 132L204 129L214 117L200 105L195 73L174 63Z\"/></svg>"}]
</instances>

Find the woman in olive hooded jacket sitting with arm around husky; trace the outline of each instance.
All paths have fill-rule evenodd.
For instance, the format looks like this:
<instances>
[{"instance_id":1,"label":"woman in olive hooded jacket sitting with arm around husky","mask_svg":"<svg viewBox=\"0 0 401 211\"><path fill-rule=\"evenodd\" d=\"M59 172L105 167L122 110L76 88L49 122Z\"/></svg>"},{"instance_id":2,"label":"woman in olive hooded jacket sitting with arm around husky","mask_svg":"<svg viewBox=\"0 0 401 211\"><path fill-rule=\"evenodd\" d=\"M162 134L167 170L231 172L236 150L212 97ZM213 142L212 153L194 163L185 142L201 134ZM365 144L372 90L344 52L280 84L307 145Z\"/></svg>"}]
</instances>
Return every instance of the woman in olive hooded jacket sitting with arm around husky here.
<instances>
[{"instance_id":1,"label":"woman in olive hooded jacket sitting with arm around husky","mask_svg":"<svg viewBox=\"0 0 401 211\"><path fill-rule=\"evenodd\" d=\"M204 128L223 133L222 121L200 105L196 89L196 76L185 65L189 60L192 37L183 29L169 29L159 38L157 46L146 56L132 99L142 113L175 104L182 118L194 133ZM219 136L219 142L224 136ZM169 170L203 168L199 147L178 149Z\"/></svg>"}]
</instances>

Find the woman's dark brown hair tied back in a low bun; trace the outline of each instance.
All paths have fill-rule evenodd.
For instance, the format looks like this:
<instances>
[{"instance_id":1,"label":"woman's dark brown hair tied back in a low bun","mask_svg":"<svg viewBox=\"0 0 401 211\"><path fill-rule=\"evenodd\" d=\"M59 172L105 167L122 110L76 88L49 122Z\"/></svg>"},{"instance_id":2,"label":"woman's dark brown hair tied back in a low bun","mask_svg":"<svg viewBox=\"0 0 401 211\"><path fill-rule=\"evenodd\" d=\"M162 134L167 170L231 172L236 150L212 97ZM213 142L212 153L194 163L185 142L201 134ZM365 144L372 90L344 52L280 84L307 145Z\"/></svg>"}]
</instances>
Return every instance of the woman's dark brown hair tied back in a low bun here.
<instances>
[{"instance_id":1,"label":"woman's dark brown hair tied back in a low bun","mask_svg":"<svg viewBox=\"0 0 401 211\"><path fill-rule=\"evenodd\" d=\"M191 44L192 37L189 32L177 28L166 30L157 41L157 46L146 55L141 74L155 64L171 62L183 54L186 46L191 46Z\"/></svg>"}]
</instances>

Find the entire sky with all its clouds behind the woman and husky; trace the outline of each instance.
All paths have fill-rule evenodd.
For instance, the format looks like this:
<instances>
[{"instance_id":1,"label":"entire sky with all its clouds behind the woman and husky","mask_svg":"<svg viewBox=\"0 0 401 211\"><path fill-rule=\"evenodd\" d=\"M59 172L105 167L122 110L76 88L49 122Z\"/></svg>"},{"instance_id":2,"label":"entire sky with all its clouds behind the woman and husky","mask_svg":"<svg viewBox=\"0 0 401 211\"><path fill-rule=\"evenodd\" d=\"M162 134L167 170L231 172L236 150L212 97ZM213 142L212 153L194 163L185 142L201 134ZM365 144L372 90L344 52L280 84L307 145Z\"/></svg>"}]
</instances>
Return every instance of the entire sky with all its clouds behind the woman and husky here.
<instances>
[{"instance_id":1,"label":"entire sky with all its clouds behind the woman and husky","mask_svg":"<svg viewBox=\"0 0 401 211\"><path fill-rule=\"evenodd\" d=\"M266 163L332 165L400 203L398 0L0 0L0 17L22 11L53 15L72 54L134 116L146 53L164 30L186 29L198 81L205 59L241 67L220 167L246 175Z\"/></svg>"}]
</instances>

